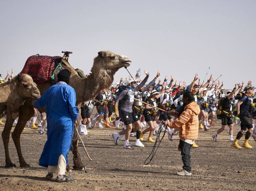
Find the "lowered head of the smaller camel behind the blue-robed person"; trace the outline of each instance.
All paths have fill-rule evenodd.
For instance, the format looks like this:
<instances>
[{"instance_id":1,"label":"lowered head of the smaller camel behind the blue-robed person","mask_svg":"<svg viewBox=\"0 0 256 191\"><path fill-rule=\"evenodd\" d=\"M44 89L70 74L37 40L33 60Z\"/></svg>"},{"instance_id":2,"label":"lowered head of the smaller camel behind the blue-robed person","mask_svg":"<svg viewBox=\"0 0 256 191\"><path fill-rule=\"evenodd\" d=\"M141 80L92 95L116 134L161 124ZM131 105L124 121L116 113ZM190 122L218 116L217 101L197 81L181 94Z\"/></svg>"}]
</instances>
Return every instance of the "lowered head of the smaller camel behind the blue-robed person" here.
<instances>
[{"instance_id":1,"label":"lowered head of the smaller camel behind the blue-robed person","mask_svg":"<svg viewBox=\"0 0 256 191\"><path fill-rule=\"evenodd\" d=\"M36 87L31 76L28 74L18 74L18 94L24 98L31 97L34 100L40 98L40 91Z\"/></svg>"}]
</instances>

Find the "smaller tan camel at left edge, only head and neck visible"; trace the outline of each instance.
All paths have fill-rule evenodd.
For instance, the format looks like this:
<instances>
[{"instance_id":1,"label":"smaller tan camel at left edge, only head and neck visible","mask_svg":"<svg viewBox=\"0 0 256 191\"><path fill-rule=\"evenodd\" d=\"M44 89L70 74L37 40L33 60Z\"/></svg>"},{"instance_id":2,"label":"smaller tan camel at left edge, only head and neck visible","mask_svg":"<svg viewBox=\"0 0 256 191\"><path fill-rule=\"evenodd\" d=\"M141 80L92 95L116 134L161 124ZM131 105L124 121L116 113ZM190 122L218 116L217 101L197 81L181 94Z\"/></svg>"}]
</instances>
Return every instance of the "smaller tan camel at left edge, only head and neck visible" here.
<instances>
[{"instance_id":1,"label":"smaller tan camel at left edge, only head and neck visible","mask_svg":"<svg viewBox=\"0 0 256 191\"><path fill-rule=\"evenodd\" d=\"M35 100L40 98L40 92L36 84L32 77L27 74L18 74L12 80L0 86L0 103L10 106L13 113L17 112L19 106L27 98Z\"/></svg>"}]
</instances>

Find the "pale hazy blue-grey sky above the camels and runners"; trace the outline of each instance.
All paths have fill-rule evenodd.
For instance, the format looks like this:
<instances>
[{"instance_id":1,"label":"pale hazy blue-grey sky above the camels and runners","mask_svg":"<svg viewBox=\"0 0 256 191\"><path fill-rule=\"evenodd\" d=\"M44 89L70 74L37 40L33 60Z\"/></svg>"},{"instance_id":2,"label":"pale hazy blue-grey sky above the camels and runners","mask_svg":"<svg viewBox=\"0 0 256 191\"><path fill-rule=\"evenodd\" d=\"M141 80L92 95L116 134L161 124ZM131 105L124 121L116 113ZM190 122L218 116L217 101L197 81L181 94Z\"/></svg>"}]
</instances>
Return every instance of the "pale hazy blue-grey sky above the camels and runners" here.
<instances>
[{"instance_id":1,"label":"pale hazy blue-grey sky above the camels and runners","mask_svg":"<svg viewBox=\"0 0 256 191\"><path fill-rule=\"evenodd\" d=\"M1 0L2 77L34 54L62 56L89 73L101 50L130 57L128 70L160 71L191 82L209 66L226 88L255 81L256 1ZM124 68L115 82L127 77ZM142 76L144 77L144 76ZM149 79L151 79L151 77ZM209 77L209 75L208 75Z\"/></svg>"}]
</instances>

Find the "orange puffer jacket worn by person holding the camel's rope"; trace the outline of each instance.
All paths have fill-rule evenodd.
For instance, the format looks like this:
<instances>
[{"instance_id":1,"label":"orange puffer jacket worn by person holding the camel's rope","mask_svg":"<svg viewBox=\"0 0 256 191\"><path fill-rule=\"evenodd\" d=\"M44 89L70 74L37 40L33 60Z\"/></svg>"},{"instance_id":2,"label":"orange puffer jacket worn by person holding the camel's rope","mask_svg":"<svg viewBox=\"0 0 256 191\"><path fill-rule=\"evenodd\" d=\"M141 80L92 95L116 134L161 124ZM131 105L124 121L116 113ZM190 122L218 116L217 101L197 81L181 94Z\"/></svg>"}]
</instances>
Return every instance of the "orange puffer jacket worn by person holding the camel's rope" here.
<instances>
[{"instance_id":1,"label":"orange puffer jacket worn by person holding the camel's rope","mask_svg":"<svg viewBox=\"0 0 256 191\"><path fill-rule=\"evenodd\" d=\"M180 128L180 139L196 140L198 137L198 115L200 108L195 101L185 106L177 121L171 121L167 125L171 128Z\"/></svg>"}]
</instances>

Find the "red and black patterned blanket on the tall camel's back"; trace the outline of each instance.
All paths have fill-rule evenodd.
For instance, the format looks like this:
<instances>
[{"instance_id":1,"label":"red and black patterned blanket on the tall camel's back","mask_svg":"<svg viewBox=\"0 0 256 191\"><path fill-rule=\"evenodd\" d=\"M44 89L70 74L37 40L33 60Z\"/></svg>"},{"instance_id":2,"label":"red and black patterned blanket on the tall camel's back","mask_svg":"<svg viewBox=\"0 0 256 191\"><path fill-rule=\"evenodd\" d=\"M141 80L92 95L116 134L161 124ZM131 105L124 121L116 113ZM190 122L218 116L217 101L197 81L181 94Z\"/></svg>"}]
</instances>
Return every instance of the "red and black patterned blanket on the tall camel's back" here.
<instances>
[{"instance_id":1,"label":"red and black patterned blanket on the tall camel's back","mask_svg":"<svg viewBox=\"0 0 256 191\"><path fill-rule=\"evenodd\" d=\"M55 66L61 61L61 56L30 56L21 74L29 74L34 82L51 81L51 75Z\"/></svg>"}]
</instances>

